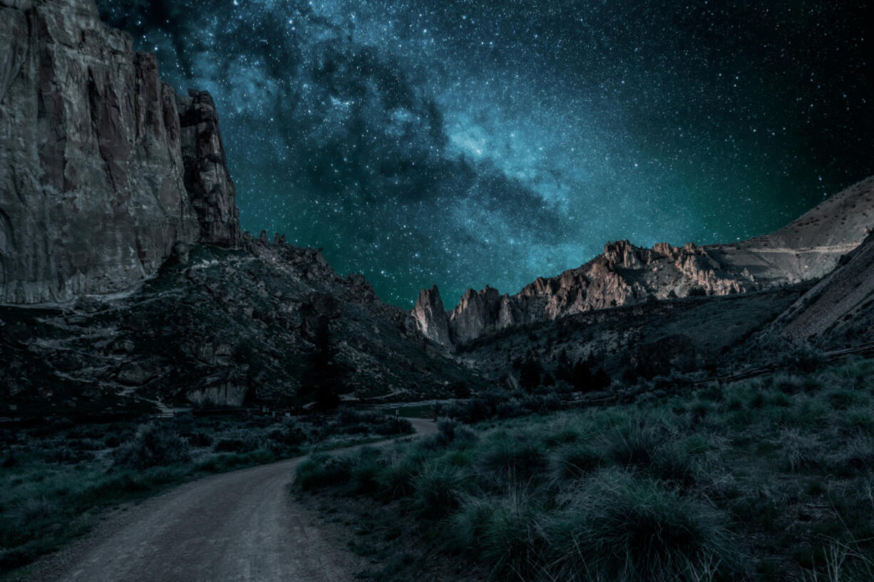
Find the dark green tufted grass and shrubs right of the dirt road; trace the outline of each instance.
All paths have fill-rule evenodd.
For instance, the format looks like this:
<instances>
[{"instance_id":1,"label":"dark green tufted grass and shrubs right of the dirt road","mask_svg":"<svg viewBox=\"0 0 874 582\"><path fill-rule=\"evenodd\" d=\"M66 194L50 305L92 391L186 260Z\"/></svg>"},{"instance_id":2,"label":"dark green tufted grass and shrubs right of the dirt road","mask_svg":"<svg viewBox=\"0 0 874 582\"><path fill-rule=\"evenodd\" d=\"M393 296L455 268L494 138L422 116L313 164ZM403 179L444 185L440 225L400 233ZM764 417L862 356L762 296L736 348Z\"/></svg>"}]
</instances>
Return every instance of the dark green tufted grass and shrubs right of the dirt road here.
<instances>
[{"instance_id":1,"label":"dark green tufted grass and shrubs right of the dirt road","mask_svg":"<svg viewBox=\"0 0 874 582\"><path fill-rule=\"evenodd\" d=\"M417 552L438 548L491 580L871 580L874 360L806 362L641 403L444 419L432 437L313 457L298 488L338 519L367 514L371 579L419 579ZM397 523L414 535L387 541Z\"/></svg>"}]
</instances>

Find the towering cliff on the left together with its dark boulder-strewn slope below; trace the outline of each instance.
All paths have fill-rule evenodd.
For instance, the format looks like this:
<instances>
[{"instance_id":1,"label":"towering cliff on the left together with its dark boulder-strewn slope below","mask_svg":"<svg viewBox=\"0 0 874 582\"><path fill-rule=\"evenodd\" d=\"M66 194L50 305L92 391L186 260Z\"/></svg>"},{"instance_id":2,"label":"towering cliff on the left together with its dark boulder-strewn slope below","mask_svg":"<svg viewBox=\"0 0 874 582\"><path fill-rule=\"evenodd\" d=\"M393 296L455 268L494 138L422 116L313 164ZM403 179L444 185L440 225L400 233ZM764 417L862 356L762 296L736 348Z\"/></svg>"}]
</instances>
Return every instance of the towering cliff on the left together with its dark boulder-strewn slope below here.
<instances>
[{"instance_id":1,"label":"towering cliff on the left together with its dark boulder-strewn slope below","mask_svg":"<svg viewBox=\"0 0 874 582\"><path fill-rule=\"evenodd\" d=\"M364 276L238 216L209 94L94 0L0 0L0 416L302 404L324 329L343 398L475 382Z\"/></svg>"}]
</instances>

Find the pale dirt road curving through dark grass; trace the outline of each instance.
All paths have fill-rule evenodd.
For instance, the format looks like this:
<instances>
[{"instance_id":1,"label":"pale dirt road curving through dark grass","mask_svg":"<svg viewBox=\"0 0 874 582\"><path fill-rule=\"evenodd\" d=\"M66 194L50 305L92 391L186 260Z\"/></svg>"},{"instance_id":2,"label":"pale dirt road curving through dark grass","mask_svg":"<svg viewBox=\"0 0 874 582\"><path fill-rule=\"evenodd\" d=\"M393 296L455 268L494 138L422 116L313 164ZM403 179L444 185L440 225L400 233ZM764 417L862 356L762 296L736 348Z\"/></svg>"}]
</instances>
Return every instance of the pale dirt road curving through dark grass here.
<instances>
[{"instance_id":1,"label":"pale dirt road curving through dark grass","mask_svg":"<svg viewBox=\"0 0 874 582\"><path fill-rule=\"evenodd\" d=\"M433 422L413 419L419 433ZM102 523L59 582L348 582L363 566L295 503L302 459L186 483Z\"/></svg>"}]
</instances>

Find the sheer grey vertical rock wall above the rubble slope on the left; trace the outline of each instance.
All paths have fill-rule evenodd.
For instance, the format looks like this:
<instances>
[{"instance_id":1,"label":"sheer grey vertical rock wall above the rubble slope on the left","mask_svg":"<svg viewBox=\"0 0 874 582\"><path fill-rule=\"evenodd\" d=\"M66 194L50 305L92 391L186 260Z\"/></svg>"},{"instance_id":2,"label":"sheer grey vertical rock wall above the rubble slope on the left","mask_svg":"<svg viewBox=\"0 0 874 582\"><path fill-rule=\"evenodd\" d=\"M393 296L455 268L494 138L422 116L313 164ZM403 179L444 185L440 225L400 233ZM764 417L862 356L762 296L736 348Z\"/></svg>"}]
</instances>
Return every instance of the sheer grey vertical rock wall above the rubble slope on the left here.
<instances>
[{"instance_id":1,"label":"sheer grey vertical rock wall above the rubble slope on the left","mask_svg":"<svg viewBox=\"0 0 874 582\"><path fill-rule=\"evenodd\" d=\"M179 100L94 0L0 0L0 302L121 291L177 241L236 244L233 197L208 95Z\"/></svg>"}]
</instances>

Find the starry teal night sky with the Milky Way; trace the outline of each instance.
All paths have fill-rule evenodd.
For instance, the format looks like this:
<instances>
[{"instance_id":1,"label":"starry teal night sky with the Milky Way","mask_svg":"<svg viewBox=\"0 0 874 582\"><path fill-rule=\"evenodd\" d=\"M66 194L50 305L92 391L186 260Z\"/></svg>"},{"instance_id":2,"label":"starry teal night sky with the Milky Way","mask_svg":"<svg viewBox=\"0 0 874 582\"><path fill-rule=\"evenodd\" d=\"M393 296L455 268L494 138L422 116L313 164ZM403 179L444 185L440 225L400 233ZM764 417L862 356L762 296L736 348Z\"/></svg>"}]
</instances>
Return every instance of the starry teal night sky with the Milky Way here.
<instances>
[{"instance_id":1,"label":"starry teal night sky with the Milky Way","mask_svg":"<svg viewBox=\"0 0 874 582\"><path fill-rule=\"evenodd\" d=\"M763 234L874 174L869 2L98 3L215 97L246 230L405 308Z\"/></svg>"}]
</instances>

